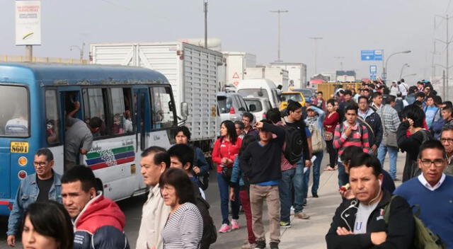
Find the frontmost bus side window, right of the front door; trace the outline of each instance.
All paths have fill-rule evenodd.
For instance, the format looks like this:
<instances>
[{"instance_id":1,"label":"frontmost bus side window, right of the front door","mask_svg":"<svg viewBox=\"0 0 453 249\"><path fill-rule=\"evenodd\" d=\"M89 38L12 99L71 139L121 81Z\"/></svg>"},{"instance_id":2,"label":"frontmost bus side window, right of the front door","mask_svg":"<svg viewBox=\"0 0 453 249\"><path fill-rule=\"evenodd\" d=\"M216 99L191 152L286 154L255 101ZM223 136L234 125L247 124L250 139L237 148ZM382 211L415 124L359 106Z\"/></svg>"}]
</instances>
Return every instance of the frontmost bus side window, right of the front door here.
<instances>
[{"instance_id":1,"label":"frontmost bus side window, right of the front door","mask_svg":"<svg viewBox=\"0 0 453 249\"><path fill-rule=\"evenodd\" d=\"M152 127L162 129L173 126L173 108L170 88L151 86Z\"/></svg>"}]
</instances>

